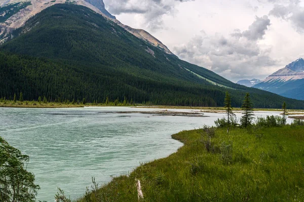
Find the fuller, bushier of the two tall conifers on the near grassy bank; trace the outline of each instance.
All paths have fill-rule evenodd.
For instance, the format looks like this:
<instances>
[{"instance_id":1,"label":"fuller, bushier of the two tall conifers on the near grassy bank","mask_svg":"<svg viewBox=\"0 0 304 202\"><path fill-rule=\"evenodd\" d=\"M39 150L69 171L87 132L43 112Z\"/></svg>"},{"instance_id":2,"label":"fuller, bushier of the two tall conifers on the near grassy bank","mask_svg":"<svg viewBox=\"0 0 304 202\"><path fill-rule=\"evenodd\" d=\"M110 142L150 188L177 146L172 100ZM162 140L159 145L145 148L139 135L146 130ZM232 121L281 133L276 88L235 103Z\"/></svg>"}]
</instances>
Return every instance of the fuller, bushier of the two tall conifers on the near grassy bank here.
<instances>
[{"instance_id":1,"label":"fuller, bushier of the two tall conifers on the near grassy bank","mask_svg":"<svg viewBox=\"0 0 304 202\"><path fill-rule=\"evenodd\" d=\"M243 127L247 127L248 125L251 124L251 120L254 119L252 116L253 114L253 109L252 109L252 102L250 99L250 95L247 92L245 97L244 97L244 101L243 101L243 105L242 105L242 110L243 110L243 117L241 119L241 124Z\"/></svg>"}]
</instances>

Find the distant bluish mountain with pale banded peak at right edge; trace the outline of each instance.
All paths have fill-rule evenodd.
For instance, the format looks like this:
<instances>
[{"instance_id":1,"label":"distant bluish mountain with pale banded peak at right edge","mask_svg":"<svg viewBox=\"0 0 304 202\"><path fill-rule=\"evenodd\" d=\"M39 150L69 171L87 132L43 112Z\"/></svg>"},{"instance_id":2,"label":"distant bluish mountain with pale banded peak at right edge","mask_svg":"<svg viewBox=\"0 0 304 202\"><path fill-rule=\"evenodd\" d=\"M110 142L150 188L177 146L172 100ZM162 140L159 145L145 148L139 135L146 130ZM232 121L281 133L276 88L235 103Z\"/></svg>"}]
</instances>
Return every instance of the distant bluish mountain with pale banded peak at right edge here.
<instances>
[{"instance_id":1,"label":"distant bluish mountain with pale banded peak at right edge","mask_svg":"<svg viewBox=\"0 0 304 202\"><path fill-rule=\"evenodd\" d=\"M297 59L253 87L304 100L304 60Z\"/></svg>"}]
</instances>

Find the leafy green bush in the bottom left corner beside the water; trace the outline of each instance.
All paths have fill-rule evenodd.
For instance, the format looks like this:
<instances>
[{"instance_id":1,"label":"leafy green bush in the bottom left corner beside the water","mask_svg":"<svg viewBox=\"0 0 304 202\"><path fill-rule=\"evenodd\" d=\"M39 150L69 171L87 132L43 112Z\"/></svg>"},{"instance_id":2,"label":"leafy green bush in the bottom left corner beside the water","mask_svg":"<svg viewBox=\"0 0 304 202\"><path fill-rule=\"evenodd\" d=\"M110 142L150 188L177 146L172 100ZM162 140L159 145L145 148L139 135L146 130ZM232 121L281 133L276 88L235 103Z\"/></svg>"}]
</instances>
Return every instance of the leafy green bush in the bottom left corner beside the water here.
<instances>
[{"instance_id":1,"label":"leafy green bush in the bottom left corner beside the water","mask_svg":"<svg viewBox=\"0 0 304 202\"><path fill-rule=\"evenodd\" d=\"M26 171L29 157L0 137L0 201L34 202L40 189L35 177Z\"/></svg>"}]
</instances>

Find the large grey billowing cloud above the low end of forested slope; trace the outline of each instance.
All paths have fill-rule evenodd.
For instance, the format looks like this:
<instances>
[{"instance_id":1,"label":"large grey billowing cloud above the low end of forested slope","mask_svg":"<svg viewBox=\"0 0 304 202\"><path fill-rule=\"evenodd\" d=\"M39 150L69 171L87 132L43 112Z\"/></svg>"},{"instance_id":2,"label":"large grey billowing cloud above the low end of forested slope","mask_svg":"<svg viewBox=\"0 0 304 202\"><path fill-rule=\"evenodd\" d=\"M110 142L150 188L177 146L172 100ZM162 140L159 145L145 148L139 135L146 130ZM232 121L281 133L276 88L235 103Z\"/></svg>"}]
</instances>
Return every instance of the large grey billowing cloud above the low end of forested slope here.
<instances>
[{"instance_id":1,"label":"large grey billowing cloud above the low end of forested slope","mask_svg":"<svg viewBox=\"0 0 304 202\"><path fill-rule=\"evenodd\" d=\"M263 16L256 17L247 30L236 29L227 37L202 31L188 43L175 46L173 52L183 60L235 81L253 74L267 76L263 68L277 62L269 56L271 48L261 48L259 41L270 25L269 18Z\"/></svg>"}]
</instances>

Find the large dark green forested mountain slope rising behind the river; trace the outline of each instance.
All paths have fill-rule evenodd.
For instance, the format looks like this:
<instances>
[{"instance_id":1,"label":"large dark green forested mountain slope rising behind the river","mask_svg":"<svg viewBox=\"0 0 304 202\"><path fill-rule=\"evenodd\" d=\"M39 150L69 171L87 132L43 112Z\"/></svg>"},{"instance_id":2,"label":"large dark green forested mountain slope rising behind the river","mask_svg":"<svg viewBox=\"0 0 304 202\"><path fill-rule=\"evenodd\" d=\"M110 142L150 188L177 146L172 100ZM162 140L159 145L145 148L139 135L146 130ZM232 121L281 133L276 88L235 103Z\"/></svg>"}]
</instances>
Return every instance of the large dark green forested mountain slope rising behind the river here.
<instances>
[{"instance_id":1,"label":"large dark green forested mountain slope rising behind the river","mask_svg":"<svg viewBox=\"0 0 304 202\"><path fill-rule=\"evenodd\" d=\"M157 39L156 39L157 40ZM0 46L0 97L23 92L27 100L233 106L246 92L255 107L304 109L304 102L235 84L205 68L179 60L159 45L137 37L112 18L75 4L55 4L11 30Z\"/></svg>"}]
</instances>

